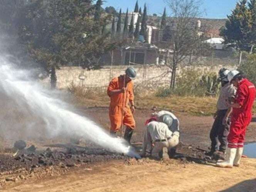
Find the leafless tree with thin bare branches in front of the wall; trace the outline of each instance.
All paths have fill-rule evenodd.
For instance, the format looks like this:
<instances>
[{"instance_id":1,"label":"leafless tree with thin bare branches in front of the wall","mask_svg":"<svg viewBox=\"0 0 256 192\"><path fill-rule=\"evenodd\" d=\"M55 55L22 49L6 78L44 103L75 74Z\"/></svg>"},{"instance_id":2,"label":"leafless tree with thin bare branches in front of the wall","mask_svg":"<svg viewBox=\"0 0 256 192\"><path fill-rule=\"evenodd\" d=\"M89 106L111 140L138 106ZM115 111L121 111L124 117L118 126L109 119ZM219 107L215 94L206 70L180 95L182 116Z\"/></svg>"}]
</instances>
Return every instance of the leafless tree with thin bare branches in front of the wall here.
<instances>
[{"instance_id":1,"label":"leafless tree with thin bare branches in front of the wall","mask_svg":"<svg viewBox=\"0 0 256 192\"><path fill-rule=\"evenodd\" d=\"M203 35L200 26L196 21L202 12L200 11L201 0L165 0L172 12L172 26L163 34L163 39L167 41L167 53L171 52L170 59L165 64L172 72L170 88L175 88L175 77L177 66L184 59L197 55L200 52L200 44ZM204 47L204 46L202 46Z\"/></svg>"}]
</instances>

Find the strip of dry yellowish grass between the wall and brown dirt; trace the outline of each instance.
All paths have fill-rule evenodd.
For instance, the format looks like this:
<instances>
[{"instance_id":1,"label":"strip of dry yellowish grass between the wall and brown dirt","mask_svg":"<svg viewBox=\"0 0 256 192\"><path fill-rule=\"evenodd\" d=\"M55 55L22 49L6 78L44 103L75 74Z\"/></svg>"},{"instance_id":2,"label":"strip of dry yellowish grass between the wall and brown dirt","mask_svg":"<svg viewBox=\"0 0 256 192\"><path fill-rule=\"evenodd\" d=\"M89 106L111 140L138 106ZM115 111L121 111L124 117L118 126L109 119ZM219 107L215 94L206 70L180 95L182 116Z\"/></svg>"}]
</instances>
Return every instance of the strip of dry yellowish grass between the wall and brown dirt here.
<instances>
[{"instance_id":1,"label":"strip of dry yellowish grass between the wall and brown dirt","mask_svg":"<svg viewBox=\"0 0 256 192\"><path fill-rule=\"evenodd\" d=\"M110 99L106 93L84 92L74 93L76 106L87 107L108 107ZM135 96L137 108L151 109L156 106L158 109L166 109L178 113L187 113L195 116L208 116L216 111L216 98L211 97L183 97L169 96L159 98L156 96Z\"/></svg>"}]
</instances>

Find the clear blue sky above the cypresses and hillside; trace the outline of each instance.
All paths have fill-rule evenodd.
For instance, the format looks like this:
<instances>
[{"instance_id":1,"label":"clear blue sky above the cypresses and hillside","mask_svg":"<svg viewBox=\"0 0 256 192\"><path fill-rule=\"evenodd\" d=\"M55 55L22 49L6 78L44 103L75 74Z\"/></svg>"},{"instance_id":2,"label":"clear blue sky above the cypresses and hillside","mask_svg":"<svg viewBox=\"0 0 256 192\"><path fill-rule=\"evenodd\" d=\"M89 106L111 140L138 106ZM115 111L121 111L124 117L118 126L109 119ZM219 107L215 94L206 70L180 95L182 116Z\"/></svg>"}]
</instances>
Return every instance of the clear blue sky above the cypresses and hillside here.
<instances>
[{"instance_id":1,"label":"clear blue sky above the cypresses and hillside","mask_svg":"<svg viewBox=\"0 0 256 192\"><path fill-rule=\"evenodd\" d=\"M238 0L202 0L202 10L204 14L202 17L211 19L225 19L227 15L231 13L231 10L235 8ZM120 8L123 12L129 9L129 12L134 10L136 0L105 0L103 7L113 6L117 10ZM138 0L139 6L143 10L144 3L147 5L147 11L149 15L156 13L162 15L164 7L167 7L167 14L171 12L168 10L168 6L165 0Z\"/></svg>"}]
</instances>

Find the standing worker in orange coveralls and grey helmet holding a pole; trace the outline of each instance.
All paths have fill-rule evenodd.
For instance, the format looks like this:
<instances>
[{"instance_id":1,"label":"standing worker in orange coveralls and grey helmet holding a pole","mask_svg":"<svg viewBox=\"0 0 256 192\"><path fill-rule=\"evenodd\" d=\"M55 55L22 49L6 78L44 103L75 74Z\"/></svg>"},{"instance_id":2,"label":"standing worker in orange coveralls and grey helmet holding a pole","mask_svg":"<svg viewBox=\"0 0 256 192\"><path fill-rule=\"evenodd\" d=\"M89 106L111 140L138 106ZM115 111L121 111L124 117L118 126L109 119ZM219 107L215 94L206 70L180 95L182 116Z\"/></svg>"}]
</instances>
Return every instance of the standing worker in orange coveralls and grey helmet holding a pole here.
<instances>
[{"instance_id":1,"label":"standing worker in orange coveralls and grey helmet holding a pole","mask_svg":"<svg viewBox=\"0 0 256 192\"><path fill-rule=\"evenodd\" d=\"M135 120L133 118L135 106L132 81L135 77L135 69L128 67L124 75L113 78L108 86L108 96L110 97L110 134L116 136L117 132L120 131L123 117L123 125L126 125L124 139L128 141L128 143L130 143L133 130L135 129ZM131 107L128 105L129 103Z\"/></svg>"}]
</instances>

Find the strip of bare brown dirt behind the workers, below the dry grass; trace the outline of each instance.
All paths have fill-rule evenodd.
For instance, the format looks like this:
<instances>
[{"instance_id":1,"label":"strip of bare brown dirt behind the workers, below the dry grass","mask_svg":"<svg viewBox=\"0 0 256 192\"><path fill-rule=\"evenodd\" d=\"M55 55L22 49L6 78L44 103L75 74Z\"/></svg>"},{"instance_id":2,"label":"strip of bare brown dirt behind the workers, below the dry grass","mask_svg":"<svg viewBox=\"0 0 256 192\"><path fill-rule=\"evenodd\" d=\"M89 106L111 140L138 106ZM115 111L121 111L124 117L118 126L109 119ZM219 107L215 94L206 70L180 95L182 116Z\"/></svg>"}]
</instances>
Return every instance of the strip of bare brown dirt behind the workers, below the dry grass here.
<instances>
[{"instance_id":1,"label":"strip of bare brown dirt behind the workers, below the dry grass","mask_svg":"<svg viewBox=\"0 0 256 192\"><path fill-rule=\"evenodd\" d=\"M87 108L82 111L101 126L109 129L108 108ZM132 142L141 142L143 138L143 130L145 120L150 116L150 110L136 110L135 121L136 129L132 137ZM180 140L187 145L195 145L203 148L210 146L209 133L213 124L212 116L190 116L183 113L174 114L180 120ZM246 133L246 142L256 141L256 118L248 127Z\"/></svg>"}]
</instances>

